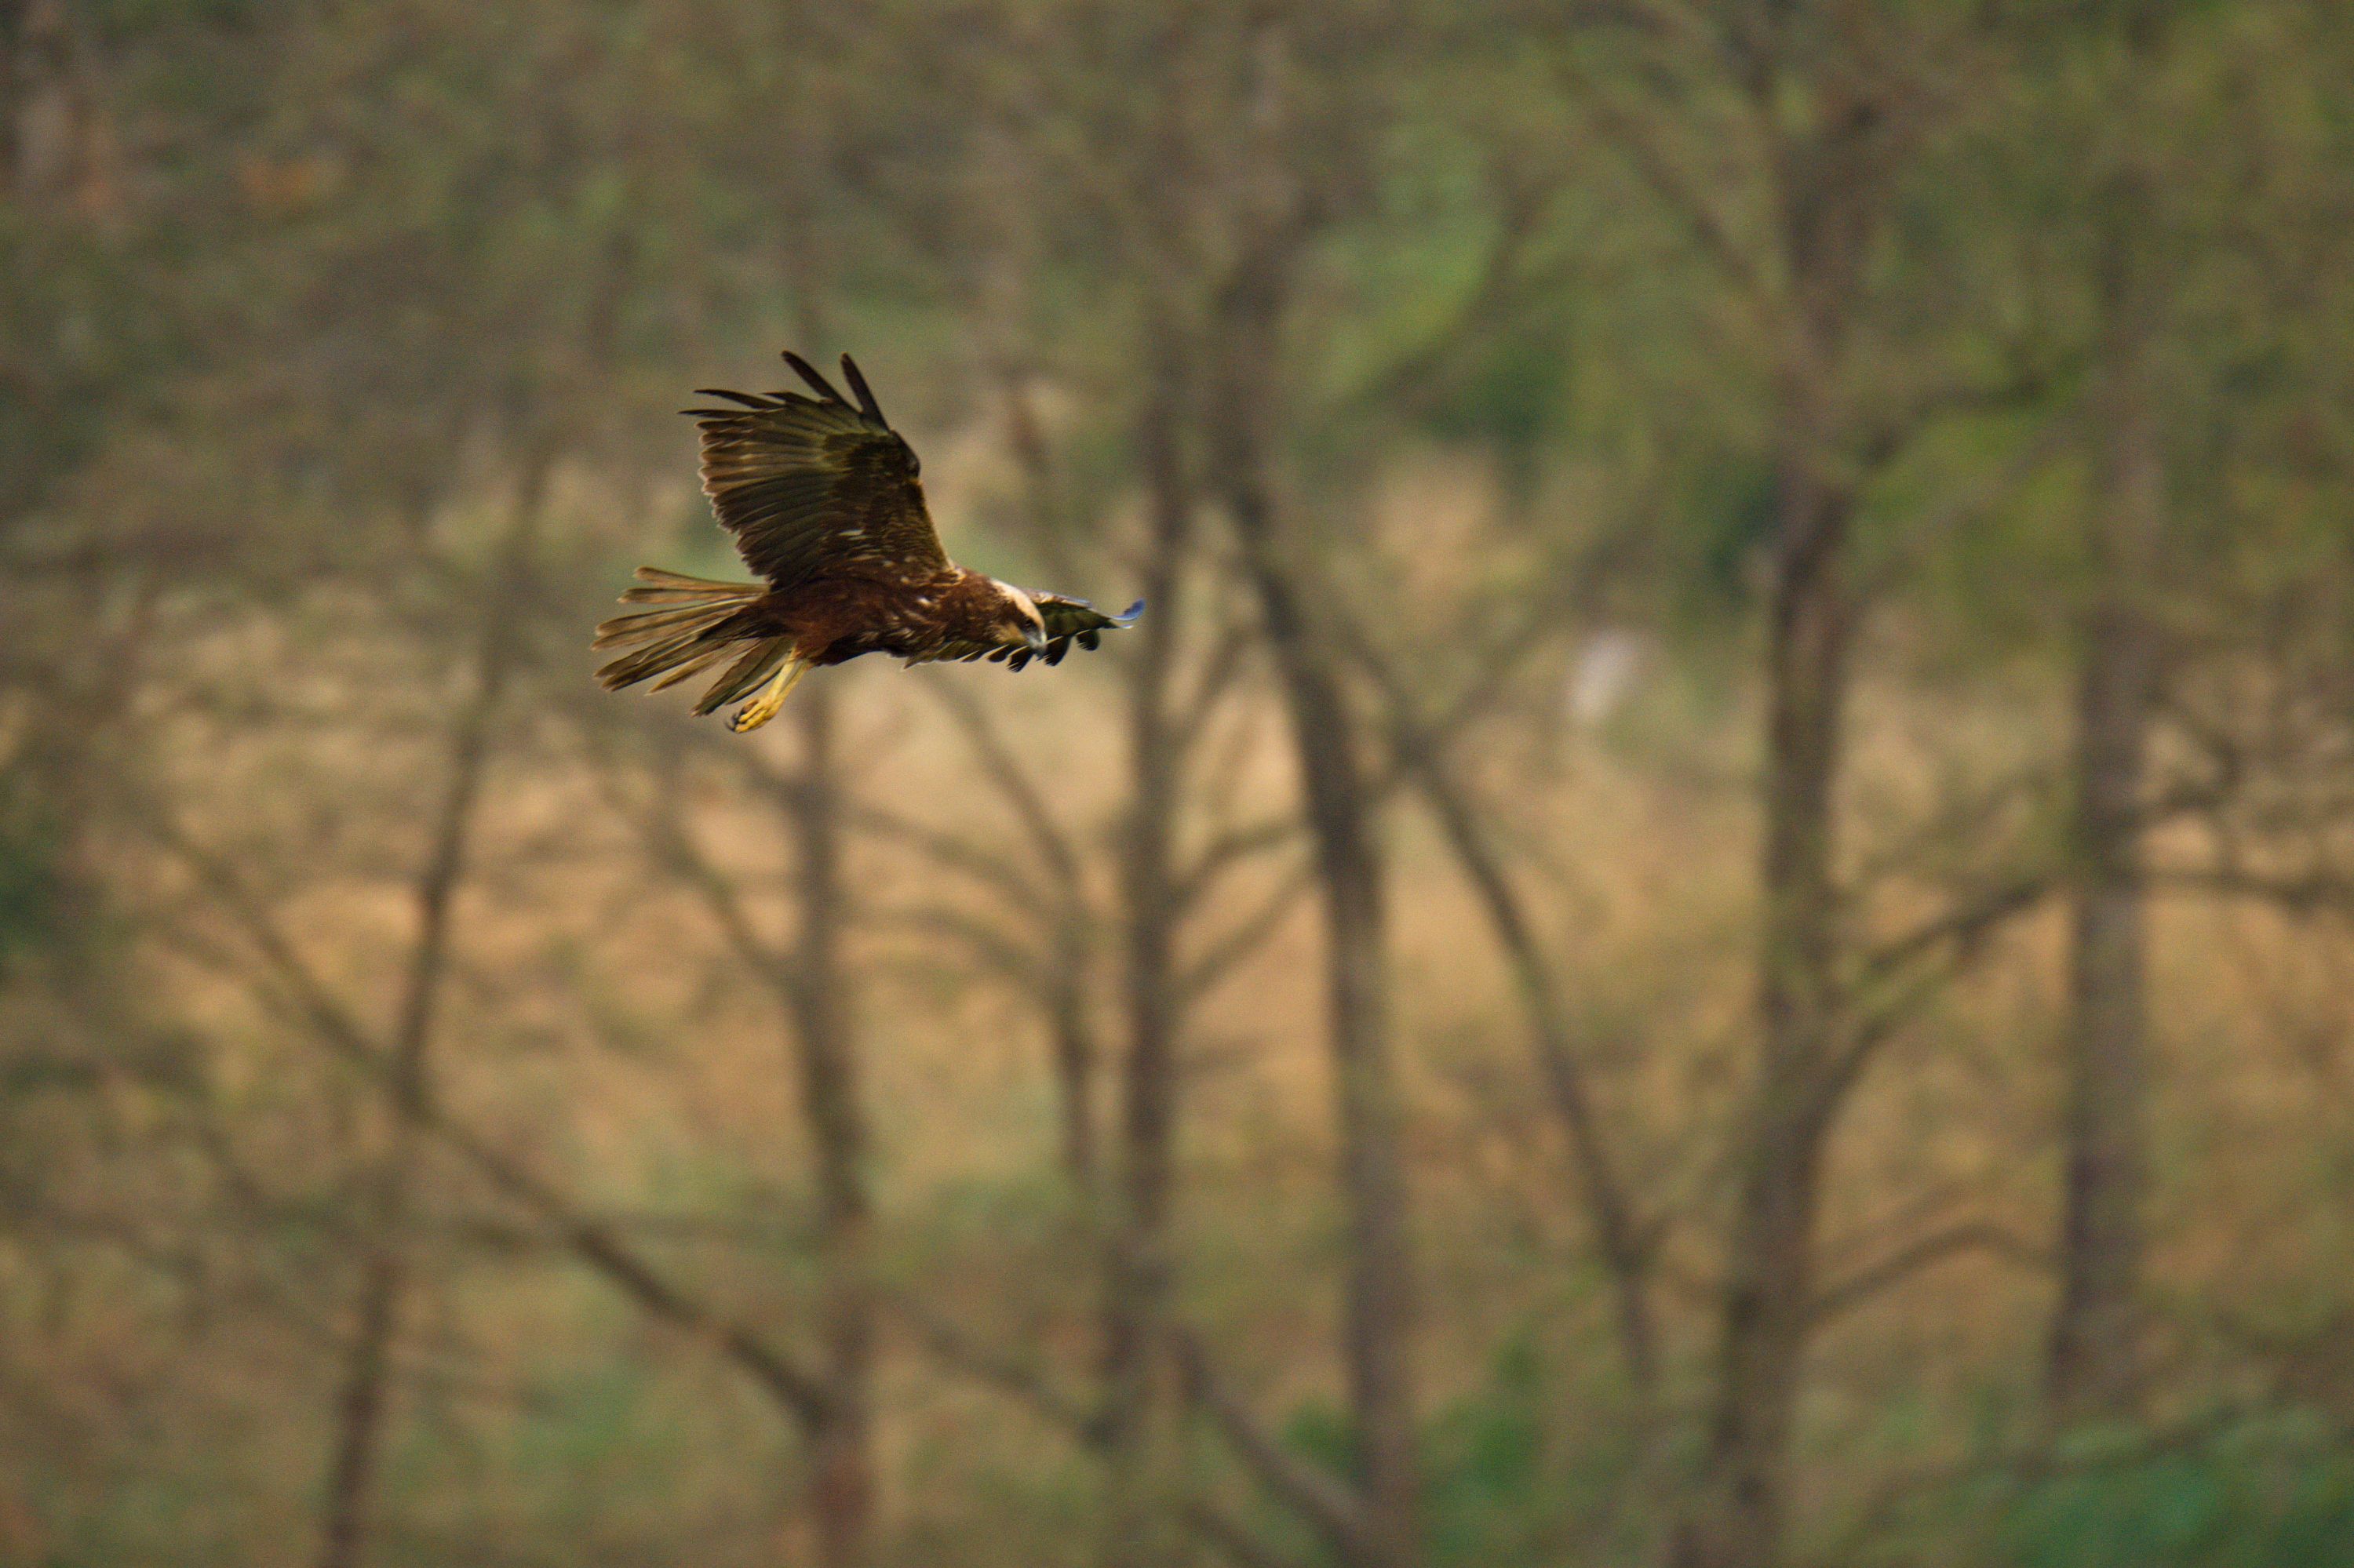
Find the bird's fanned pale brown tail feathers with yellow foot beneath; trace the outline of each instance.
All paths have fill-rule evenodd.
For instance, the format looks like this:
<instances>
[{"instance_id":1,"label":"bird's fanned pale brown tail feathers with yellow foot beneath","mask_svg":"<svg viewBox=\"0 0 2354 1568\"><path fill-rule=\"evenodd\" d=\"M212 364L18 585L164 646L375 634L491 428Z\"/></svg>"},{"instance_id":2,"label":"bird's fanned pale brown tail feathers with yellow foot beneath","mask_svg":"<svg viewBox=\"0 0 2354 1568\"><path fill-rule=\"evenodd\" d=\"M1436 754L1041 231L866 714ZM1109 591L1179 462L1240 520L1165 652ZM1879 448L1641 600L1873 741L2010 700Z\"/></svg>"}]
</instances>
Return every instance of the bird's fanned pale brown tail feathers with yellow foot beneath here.
<instances>
[{"instance_id":1,"label":"bird's fanned pale brown tail feathers with yellow foot beneath","mask_svg":"<svg viewBox=\"0 0 2354 1568\"><path fill-rule=\"evenodd\" d=\"M793 657L793 638L777 636L765 617L744 614L765 593L767 589L751 582L711 582L659 567L638 567L638 586L624 593L621 603L659 607L617 614L596 629L593 647L631 650L598 669L596 678L605 690L619 690L661 676L654 680L659 692L734 655L734 662L711 683L694 711L711 713L784 673L786 680L779 680L784 690L765 695L774 702L756 702L737 716L739 720L749 718L749 723L737 723L737 730L753 730L777 713L777 704L791 690L791 676L805 669Z\"/></svg>"}]
</instances>

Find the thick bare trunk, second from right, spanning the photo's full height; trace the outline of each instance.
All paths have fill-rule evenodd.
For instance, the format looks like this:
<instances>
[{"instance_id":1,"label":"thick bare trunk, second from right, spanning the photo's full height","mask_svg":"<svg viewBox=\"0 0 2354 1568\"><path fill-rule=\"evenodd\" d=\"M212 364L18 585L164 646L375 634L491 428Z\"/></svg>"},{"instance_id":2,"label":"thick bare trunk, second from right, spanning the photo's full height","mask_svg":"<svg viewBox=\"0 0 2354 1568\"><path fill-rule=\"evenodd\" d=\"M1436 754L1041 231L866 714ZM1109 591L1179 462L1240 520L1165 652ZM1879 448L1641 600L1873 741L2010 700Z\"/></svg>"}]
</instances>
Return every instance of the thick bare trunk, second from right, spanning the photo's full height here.
<instances>
[{"instance_id":1,"label":"thick bare trunk, second from right, spanning the photo's full height","mask_svg":"<svg viewBox=\"0 0 2354 1568\"><path fill-rule=\"evenodd\" d=\"M1742 1114L1718 1323L1718 1382L1700 1486L1678 1523L1681 1568L1770 1568L1782 1559L1789 1446L1815 1321L1822 1163L1855 1083L1834 883L1855 605L1846 582L1855 478L1869 428L1843 400L1864 306L1862 268L1890 181L1893 94L1883 68L1808 54L1775 12L1744 89L1770 127L1780 266L1773 582L1766 605L1766 772L1758 859L1758 1071ZM1874 61L1878 66L1878 61ZM1810 115L1777 101L1806 75ZM1902 428L1883 431L1902 440Z\"/></svg>"}]
</instances>

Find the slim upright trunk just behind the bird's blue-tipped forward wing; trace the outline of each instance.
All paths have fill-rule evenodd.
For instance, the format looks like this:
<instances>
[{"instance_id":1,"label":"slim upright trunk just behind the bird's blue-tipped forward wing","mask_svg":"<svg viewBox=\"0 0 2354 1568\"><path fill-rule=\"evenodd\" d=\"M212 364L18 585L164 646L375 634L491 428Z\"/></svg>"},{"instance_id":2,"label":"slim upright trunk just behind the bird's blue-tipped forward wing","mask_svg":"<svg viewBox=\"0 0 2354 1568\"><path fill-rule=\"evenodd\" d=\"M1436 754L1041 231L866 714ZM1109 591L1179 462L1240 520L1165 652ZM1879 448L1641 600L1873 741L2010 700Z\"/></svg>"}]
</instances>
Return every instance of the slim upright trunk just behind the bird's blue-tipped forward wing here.
<instances>
[{"instance_id":1,"label":"slim upright trunk just behind the bird's blue-tipped forward wing","mask_svg":"<svg viewBox=\"0 0 2354 1568\"><path fill-rule=\"evenodd\" d=\"M1172 1356L1168 1347L1170 1194L1177 1128L1177 869L1182 739L1170 713L1179 591L1193 534L1193 492L1179 452L1182 367L1158 351L1139 447L1151 506L1144 598L1151 612L1128 676L1130 805L1121 857L1128 913L1128 1059L1121 1074L1121 1187L1106 1257L1104 1448L1111 1464L1104 1563L1177 1561L1186 1535L1168 1471Z\"/></svg>"}]
</instances>

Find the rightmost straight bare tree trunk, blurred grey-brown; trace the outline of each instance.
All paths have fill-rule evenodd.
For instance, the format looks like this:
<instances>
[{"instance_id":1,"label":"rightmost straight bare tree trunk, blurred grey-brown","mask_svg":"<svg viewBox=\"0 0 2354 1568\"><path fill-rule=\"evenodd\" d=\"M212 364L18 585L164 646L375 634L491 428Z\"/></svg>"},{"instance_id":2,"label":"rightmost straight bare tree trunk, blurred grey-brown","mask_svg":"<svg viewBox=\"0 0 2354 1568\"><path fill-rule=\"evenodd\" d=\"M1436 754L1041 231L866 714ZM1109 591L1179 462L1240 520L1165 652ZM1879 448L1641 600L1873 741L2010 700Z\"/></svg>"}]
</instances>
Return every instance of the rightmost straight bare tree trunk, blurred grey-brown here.
<instances>
[{"instance_id":1,"label":"rightmost straight bare tree trunk, blurred grey-brown","mask_svg":"<svg viewBox=\"0 0 2354 1568\"><path fill-rule=\"evenodd\" d=\"M2149 1099L2142 786L2156 678L2147 593L2166 530L2149 386L2149 301L2130 254L2135 193L2109 240L2109 386L2079 626L2067 1031L2067 1196L2050 1396L2062 1417L2126 1415L2140 1382Z\"/></svg>"}]
</instances>

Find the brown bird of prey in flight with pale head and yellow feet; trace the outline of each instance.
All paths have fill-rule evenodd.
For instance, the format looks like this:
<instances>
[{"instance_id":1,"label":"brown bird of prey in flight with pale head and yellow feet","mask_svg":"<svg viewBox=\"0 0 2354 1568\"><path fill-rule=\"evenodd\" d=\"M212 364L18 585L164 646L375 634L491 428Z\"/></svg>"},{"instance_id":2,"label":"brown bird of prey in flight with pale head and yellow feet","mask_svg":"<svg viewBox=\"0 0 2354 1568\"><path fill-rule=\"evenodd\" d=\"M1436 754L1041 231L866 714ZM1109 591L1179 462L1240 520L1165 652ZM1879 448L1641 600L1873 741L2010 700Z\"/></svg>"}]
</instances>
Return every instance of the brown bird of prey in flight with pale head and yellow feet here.
<instances>
[{"instance_id":1,"label":"brown bird of prey in flight with pale head and yellow feet","mask_svg":"<svg viewBox=\"0 0 2354 1568\"><path fill-rule=\"evenodd\" d=\"M923 509L916 452L883 421L866 377L843 356L857 403L786 353L805 393L701 388L737 407L690 407L704 433L704 494L744 565L763 582L711 582L638 567L624 605L657 605L596 629L598 647L629 647L598 671L607 690L652 676L659 692L711 666L694 704L711 713L749 697L727 723L758 730L819 664L887 652L909 664L993 659L1062 664L1071 643L1095 647L1128 626L1083 598L1029 593L949 560Z\"/></svg>"}]
</instances>

